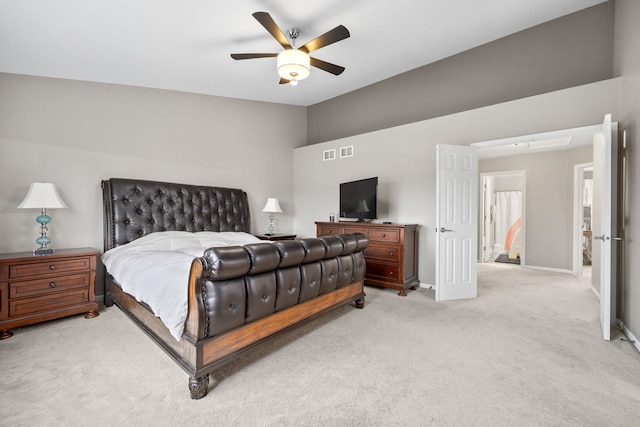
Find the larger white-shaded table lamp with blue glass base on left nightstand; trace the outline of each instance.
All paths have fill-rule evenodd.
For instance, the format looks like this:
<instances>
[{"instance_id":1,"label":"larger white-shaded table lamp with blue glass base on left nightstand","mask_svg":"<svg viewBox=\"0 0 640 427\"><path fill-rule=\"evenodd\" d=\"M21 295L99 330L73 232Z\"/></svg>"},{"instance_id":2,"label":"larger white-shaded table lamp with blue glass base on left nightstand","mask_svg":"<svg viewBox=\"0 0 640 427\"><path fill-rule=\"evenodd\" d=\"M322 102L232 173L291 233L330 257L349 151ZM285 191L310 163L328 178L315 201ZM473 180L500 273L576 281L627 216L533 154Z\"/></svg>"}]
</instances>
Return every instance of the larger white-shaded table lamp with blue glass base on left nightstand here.
<instances>
[{"instance_id":1,"label":"larger white-shaded table lamp with blue glass base on left nightstand","mask_svg":"<svg viewBox=\"0 0 640 427\"><path fill-rule=\"evenodd\" d=\"M34 255L47 255L53 253L53 248L48 248L51 238L47 236L49 229L47 224L51 222L51 217L47 215L47 209L66 208L56 186L48 182L34 182L29 187L27 197L18 205L19 209L42 209L42 212L36 217L36 222L40 224L40 237L36 239L39 248L33 251Z\"/></svg>"}]
</instances>

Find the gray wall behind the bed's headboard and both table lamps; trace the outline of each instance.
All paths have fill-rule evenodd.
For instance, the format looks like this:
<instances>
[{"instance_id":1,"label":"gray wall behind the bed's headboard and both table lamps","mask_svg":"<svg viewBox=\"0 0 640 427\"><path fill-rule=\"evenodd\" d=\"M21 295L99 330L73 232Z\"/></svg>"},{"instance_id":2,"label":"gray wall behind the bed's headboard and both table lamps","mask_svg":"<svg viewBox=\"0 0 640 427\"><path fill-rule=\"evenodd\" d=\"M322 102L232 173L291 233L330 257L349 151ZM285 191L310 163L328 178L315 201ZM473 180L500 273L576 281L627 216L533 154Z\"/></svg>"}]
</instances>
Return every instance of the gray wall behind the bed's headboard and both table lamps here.
<instances>
[{"instance_id":1,"label":"gray wall behind the bed's headboard and both table lamps","mask_svg":"<svg viewBox=\"0 0 640 427\"><path fill-rule=\"evenodd\" d=\"M293 229L303 107L12 74L0 74L0 94L1 252L36 246L37 212L16 208L34 181L55 183L69 206L50 212L54 247L102 249L110 177L242 188L254 232L277 197L278 229Z\"/></svg>"}]
</instances>

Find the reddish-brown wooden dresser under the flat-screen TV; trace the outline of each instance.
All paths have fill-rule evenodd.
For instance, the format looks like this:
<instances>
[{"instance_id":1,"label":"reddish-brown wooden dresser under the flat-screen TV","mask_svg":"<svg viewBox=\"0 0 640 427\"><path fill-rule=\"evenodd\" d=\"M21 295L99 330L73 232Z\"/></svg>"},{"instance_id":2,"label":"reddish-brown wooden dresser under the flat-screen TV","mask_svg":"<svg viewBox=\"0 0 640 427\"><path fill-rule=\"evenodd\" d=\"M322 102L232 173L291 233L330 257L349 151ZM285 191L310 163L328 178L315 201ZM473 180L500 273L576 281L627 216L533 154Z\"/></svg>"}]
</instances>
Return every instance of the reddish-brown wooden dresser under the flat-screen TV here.
<instances>
[{"instance_id":1,"label":"reddish-brown wooden dresser under the flat-screen TV","mask_svg":"<svg viewBox=\"0 0 640 427\"><path fill-rule=\"evenodd\" d=\"M367 236L365 284L396 289L400 296L419 285L417 231L418 224L316 222L318 237L351 233Z\"/></svg>"}]
</instances>

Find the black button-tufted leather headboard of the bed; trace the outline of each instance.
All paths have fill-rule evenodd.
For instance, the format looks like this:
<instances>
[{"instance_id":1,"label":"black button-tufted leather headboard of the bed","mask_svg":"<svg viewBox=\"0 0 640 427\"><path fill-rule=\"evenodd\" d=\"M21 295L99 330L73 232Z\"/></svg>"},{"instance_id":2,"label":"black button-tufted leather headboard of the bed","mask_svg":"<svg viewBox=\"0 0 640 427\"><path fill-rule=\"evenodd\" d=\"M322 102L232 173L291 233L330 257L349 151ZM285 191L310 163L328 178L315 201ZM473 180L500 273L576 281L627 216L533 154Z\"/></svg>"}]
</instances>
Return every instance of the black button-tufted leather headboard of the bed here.
<instances>
[{"instance_id":1,"label":"black button-tufted leather headboard of the bed","mask_svg":"<svg viewBox=\"0 0 640 427\"><path fill-rule=\"evenodd\" d=\"M111 178L102 181L104 250L157 231L250 232L239 189Z\"/></svg>"}]
</instances>

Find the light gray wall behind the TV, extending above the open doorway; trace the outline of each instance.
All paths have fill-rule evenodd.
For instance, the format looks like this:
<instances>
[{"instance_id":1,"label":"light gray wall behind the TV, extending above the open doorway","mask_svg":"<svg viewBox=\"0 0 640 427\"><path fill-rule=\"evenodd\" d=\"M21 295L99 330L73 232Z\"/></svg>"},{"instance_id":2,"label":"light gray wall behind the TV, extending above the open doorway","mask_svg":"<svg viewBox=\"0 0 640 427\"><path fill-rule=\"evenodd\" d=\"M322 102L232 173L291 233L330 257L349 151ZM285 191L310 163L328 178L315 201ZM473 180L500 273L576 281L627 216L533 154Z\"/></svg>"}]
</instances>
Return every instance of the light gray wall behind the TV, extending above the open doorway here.
<instances>
[{"instance_id":1,"label":"light gray wall behind the TV, extending above the open doorway","mask_svg":"<svg viewBox=\"0 0 640 427\"><path fill-rule=\"evenodd\" d=\"M338 210L341 182L378 176L379 221L420 224L419 279L433 284L436 145L469 145L595 125L606 113L618 115L619 86L619 79L605 80L296 148L294 230L313 236L314 222L326 221L329 212ZM350 145L353 157L322 160L323 150Z\"/></svg>"}]
</instances>

